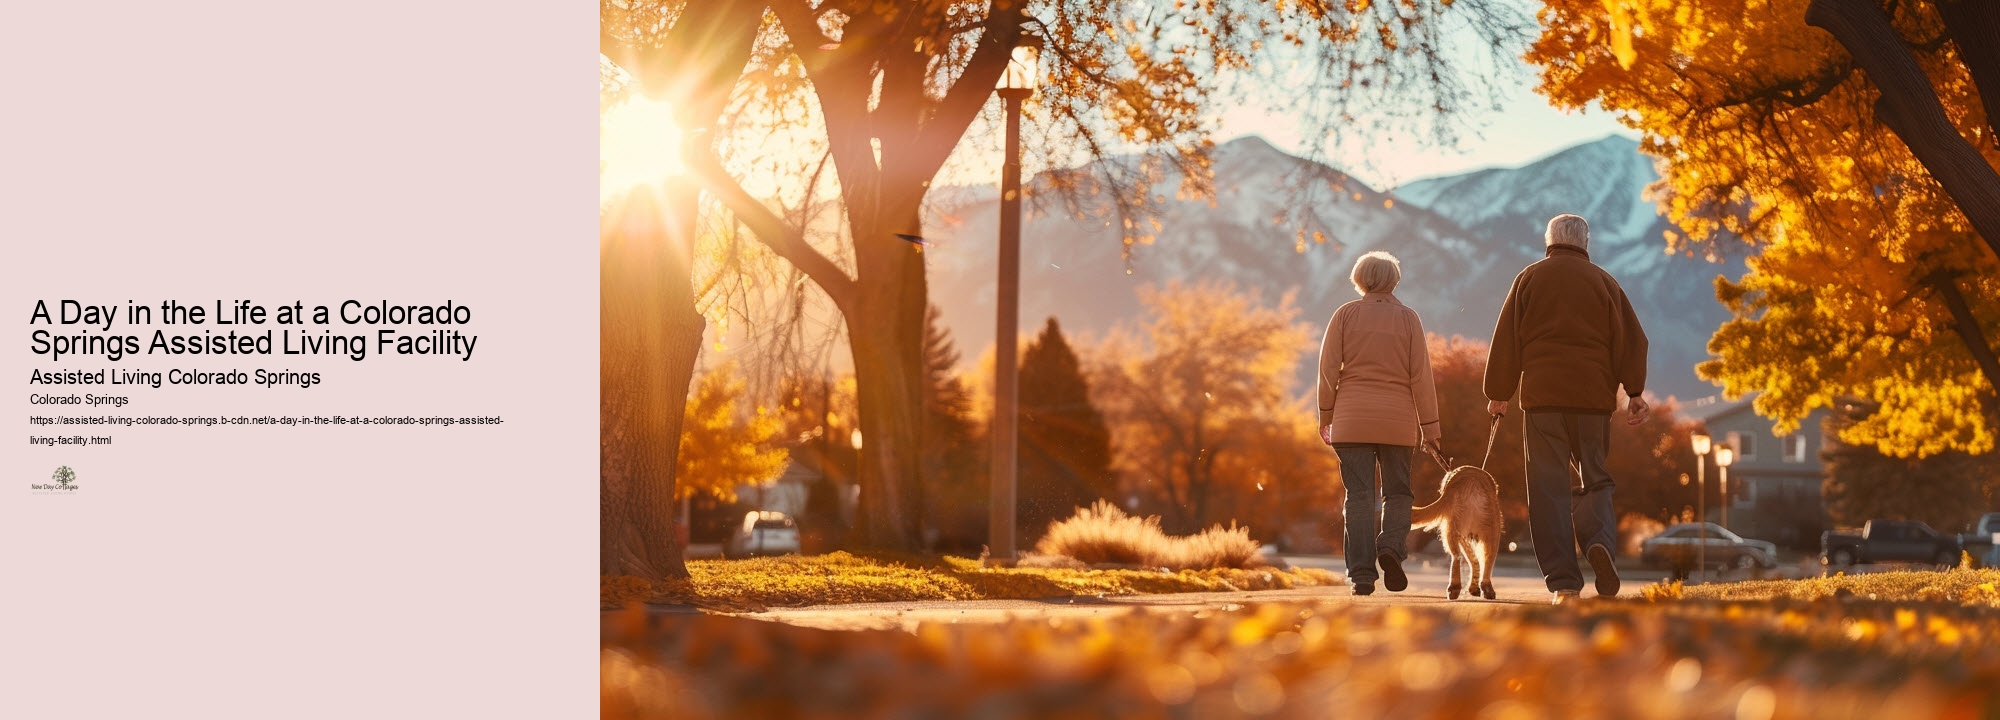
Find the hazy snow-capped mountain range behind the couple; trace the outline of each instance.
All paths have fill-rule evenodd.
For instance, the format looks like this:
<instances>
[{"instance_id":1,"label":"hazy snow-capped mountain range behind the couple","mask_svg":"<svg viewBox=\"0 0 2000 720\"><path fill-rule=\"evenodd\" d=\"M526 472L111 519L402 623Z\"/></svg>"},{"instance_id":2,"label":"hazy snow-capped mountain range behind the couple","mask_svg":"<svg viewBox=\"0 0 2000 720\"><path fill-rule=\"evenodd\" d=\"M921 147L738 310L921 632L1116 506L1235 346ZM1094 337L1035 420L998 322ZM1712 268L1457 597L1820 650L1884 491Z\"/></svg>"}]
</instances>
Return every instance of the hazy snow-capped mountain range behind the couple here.
<instances>
[{"instance_id":1,"label":"hazy snow-capped mountain range behind the couple","mask_svg":"<svg viewBox=\"0 0 2000 720\"><path fill-rule=\"evenodd\" d=\"M1178 200L1178 176L1152 188L1160 230L1154 244L1134 248L1130 274L1116 218L1082 198L1090 218L1078 220L1054 200L1046 176L1032 180L1030 198L1044 206L1022 224L1022 332L1056 316L1064 332L1102 336L1142 314L1136 288L1176 278L1234 282L1266 302L1296 290L1300 320L1320 326L1354 298L1354 258L1388 250L1404 268L1396 294L1426 330L1484 340L1514 274L1542 256L1542 224L1576 212L1592 220L1592 258L1640 304L1654 346L1650 390L1710 394L1692 364L1726 318L1712 292L1720 266L1662 252L1666 224L1640 198L1656 176L1632 140L1606 138L1512 170L1420 180L1394 194L1262 138L1222 144L1214 160L1214 200ZM972 356L994 332L998 202L992 194L954 192L950 198L978 200L938 202L942 196L932 196L936 210L926 222L934 242L924 252L930 296Z\"/></svg>"}]
</instances>

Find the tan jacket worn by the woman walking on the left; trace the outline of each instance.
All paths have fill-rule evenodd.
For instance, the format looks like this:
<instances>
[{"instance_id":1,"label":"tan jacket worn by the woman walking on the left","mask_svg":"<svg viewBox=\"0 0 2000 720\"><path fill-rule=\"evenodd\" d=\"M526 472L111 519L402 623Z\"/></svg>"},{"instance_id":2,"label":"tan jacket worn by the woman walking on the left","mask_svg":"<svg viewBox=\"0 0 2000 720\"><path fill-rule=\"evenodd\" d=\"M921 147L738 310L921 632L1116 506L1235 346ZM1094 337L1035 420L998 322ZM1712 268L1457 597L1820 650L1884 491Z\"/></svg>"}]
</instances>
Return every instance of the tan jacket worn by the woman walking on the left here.
<instances>
[{"instance_id":1,"label":"tan jacket worn by the woman walking on the left","mask_svg":"<svg viewBox=\"0 0 2000 720\"><path fill-rule=\"evenodd\" d=\"M1320 426L1334 442L1438 440L1424 322L1388 292L1334 310L1320 344Z\"/></svg>"}]
</instances>

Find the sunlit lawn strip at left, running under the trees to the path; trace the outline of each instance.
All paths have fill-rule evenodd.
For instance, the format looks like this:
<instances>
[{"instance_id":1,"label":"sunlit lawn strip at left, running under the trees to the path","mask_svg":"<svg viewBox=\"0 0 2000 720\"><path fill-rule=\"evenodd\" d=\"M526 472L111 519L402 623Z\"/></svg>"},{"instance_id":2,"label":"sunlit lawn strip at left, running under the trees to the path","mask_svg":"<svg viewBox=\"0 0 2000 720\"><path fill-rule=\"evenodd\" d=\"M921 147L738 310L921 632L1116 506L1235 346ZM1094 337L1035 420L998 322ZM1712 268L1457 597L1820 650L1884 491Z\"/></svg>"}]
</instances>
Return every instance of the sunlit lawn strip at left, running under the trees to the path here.
<instances>
[{"instance_id":1,"label":"sunlit lawn strip at left, running under the trees to the path","mask_svg":"<svg viewBox=\"0 0 2000 720\"><path fill-rule=\"evenodd\" d=\"M986 568L970 558L782 556L690 560L690 580L660 586L640 578L600 578L606 608L626 602L690 604L710 610L798 608L892 600L1014 600L1094 594L1276 590L1334 586L1326 570L1068 570Z\"/></svg>"}]
</instances>

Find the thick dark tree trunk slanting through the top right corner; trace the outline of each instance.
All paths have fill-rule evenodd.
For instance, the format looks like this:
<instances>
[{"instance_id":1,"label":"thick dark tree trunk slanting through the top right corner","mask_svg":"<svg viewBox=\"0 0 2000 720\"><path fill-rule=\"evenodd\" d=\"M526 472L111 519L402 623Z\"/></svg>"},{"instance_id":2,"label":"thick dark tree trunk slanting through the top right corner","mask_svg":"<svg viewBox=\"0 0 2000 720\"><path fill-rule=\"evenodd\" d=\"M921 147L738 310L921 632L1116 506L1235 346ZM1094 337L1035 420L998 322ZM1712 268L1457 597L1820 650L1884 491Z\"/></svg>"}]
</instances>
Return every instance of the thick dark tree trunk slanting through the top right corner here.
<instances>
[{"instance_id":1,"label":"thick dark tree trunk slanting through the top right corner","mask_svg":"<svg viewBox=\"0 0 2000 720\"><path fill-rule=\"evenodd\" d=\"M2000 254L2000 172L1944 114L1938 92L1876 0L1812 0L1806 24L1824 28L1882 90L1876 118L1944 186L1986 246Z\"/></svg>"}]
</instances>

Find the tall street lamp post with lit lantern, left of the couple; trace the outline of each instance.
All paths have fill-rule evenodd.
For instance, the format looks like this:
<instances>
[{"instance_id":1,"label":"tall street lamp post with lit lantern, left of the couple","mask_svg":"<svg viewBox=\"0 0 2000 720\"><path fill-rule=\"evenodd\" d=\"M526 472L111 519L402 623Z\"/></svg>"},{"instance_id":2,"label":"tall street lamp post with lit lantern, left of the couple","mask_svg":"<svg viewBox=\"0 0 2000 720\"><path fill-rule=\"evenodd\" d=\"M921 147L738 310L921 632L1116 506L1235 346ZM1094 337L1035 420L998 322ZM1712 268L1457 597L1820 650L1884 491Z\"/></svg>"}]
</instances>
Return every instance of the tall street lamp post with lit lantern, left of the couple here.
<instances>
[{"instance_id":1,"label":"tall street lamp post with lit lantern, left of the couple","mask_svg":"<svg viewBox=\"0 0 2000 720\"><path fill-rule=\"evenodd\" d=\"M994 304L994 458L992 512L986 528L986 556L994 562L1014 562L1014 482L1020 446L1020 362L1014 344L1020 336L1020 102L1034 94L1036 40L1022 38L1000 74L996 92L1006 104L1006 164L1000 168L1000 282Z\"/></svg>"}]
</instances>

